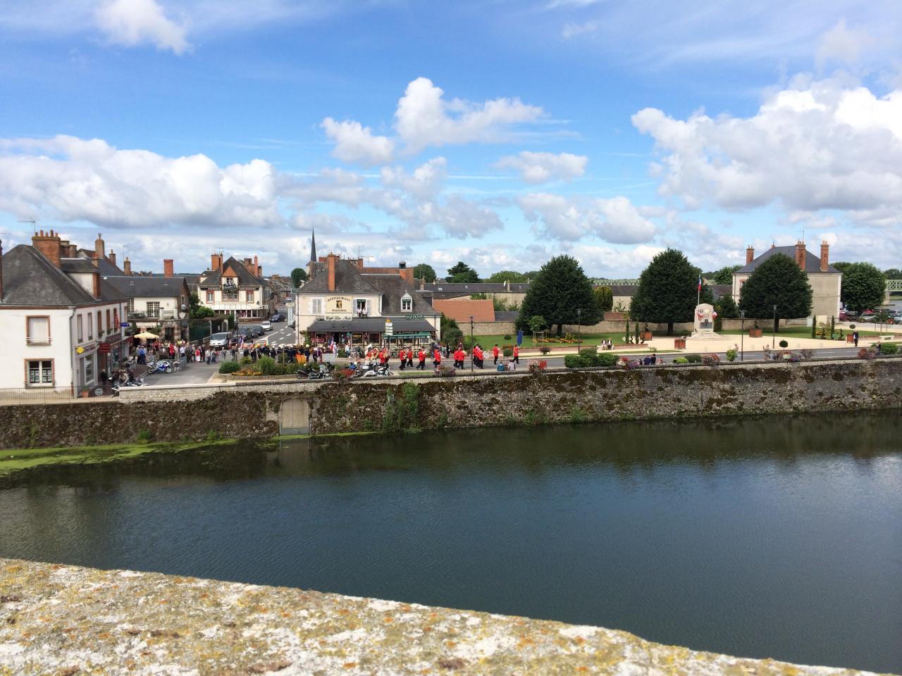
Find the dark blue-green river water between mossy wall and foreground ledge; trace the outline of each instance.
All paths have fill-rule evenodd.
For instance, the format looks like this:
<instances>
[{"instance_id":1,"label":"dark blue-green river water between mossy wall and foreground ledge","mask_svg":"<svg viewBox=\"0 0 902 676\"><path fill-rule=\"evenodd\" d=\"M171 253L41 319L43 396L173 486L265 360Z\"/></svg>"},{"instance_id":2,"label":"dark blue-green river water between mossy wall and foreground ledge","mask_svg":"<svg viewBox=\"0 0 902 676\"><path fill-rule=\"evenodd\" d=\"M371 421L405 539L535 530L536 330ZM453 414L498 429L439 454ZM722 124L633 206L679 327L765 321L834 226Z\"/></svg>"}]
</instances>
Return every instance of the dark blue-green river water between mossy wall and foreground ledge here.
<instances>
[{"instance_id":1,"label":"dark blue-green river water between mossy wall and foreground ledge","mask_svg":"<svg viewBox=\"0 0 902 676\"><path fill-rule=\"evenodd\" d=\"M897 413L338 437L66 468L0 490L0 554L902 671Z\"/></svg>"}]
</instances>

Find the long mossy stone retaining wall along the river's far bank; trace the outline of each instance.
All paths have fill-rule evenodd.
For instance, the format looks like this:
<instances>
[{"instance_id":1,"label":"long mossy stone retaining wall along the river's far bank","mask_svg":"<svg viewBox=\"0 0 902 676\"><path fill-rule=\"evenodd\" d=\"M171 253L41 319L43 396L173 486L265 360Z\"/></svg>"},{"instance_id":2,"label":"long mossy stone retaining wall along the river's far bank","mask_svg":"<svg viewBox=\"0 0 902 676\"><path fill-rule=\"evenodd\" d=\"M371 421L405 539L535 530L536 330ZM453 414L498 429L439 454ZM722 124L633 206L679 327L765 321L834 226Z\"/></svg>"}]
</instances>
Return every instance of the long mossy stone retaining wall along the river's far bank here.
<instances>
[{"instance_id":1,"label":"long mossy stone retaining wall along the river's far bank","mask_svg":"<svg viewBox=\"0 0 902 676\"><path fill-rule=\"evenodd\" d=\"M94 405L0 407L0 448L132 443L143 430L154 441L268 436L286 400L308 416L287 426L313 434L392 429L392 417L435 429L897 408L902 358L133 388Z\"/></svg>"}]
</instances>

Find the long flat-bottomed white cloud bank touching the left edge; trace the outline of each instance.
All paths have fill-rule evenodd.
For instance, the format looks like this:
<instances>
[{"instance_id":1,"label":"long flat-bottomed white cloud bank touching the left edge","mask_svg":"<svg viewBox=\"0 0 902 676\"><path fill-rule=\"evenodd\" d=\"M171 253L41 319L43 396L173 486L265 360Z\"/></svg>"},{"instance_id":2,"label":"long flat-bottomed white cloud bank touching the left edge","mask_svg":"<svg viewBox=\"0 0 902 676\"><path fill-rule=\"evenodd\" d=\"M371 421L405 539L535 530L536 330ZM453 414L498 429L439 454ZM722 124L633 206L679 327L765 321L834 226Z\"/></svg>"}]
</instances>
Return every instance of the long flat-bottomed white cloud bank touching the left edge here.
<instances>
[{"instance_id":1,"label":"long flat-bottomed white cloud bank touching the left edge","mask_svg":"<svg viewBox=\"0 0 902 676\"><path fill-rule=\"evenodd\" d=\"M72 136L0 140L0 209L119 227L279 224L269 162L219 167Z\"/></svg>"}]
</instances>

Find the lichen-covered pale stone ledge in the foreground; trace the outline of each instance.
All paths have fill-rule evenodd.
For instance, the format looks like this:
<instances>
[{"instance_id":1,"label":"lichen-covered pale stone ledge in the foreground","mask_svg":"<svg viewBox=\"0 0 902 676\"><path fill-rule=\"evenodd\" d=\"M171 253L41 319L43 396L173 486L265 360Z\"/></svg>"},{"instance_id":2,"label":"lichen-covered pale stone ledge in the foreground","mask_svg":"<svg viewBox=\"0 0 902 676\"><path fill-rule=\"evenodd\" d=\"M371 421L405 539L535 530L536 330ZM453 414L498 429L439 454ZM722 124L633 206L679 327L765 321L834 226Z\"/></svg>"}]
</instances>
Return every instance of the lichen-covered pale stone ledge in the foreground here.
<instances>
[{"instance_id":1,"label":"lichen-covered pale stone ledge in the foreground","mask_svg":"<svg viewBox=\"0 0 902 676\"><path fill-rule=\"evenodd\" d=\"M0 559L4 674L867 673L594 626Z\"/></svg>"}]
</instances>

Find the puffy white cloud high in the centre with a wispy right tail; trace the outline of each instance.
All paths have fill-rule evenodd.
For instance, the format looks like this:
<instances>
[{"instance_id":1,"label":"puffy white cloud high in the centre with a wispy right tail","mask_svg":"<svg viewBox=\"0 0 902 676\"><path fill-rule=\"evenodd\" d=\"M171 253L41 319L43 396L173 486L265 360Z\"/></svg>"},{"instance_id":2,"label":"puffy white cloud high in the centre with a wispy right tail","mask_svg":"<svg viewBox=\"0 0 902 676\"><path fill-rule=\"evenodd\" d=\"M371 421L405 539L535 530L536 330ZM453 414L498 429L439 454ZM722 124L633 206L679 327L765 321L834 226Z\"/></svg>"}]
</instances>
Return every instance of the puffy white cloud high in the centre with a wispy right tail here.
<instances>
[{"instance_id":1,"label":"puffy white cloud high in the centre with a wispy right tail","mask_svg":"<svg viewBox=\"0 0 902 676\"><path fill-rule=\"evenodd\" d=\"M493 143L511 138L511 125L538 120L544 112L519 98L495 98L475 104L446 100L428 78L410 82L395 111L395 129L407 151L428 146L471 142Z\"/></svg>"}]
</instances>

